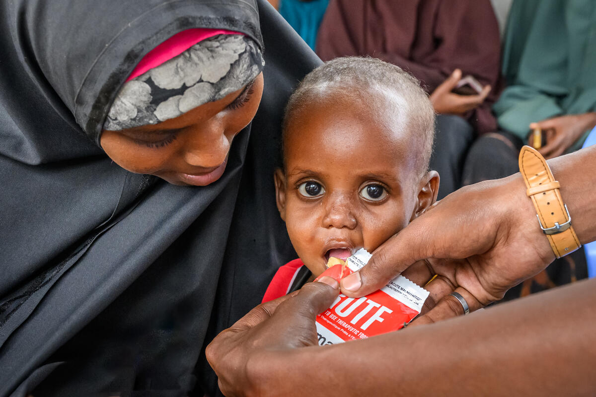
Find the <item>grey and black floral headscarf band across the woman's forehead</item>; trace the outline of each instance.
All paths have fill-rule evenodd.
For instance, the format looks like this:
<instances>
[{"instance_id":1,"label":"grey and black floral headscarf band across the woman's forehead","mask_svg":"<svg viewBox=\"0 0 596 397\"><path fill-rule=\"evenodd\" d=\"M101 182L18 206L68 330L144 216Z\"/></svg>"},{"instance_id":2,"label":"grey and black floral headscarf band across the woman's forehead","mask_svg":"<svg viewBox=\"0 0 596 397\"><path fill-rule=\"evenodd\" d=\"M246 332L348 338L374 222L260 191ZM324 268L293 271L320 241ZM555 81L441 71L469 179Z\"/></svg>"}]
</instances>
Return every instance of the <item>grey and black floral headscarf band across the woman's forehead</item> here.
<instances>
[{"instance_id":1,"label":"grey and black floral headscarf band across the woman's forehead","mask_svg":"<svg viewBox=\"0 0 596 397\"><path fill-rule=\"evenodd\" d=\"M111 105L104 130L157 124L218 101L252 82L263 65L259 46L241 33L201 40L139 76L129 77Z\"/></svg>"}]
</instances>

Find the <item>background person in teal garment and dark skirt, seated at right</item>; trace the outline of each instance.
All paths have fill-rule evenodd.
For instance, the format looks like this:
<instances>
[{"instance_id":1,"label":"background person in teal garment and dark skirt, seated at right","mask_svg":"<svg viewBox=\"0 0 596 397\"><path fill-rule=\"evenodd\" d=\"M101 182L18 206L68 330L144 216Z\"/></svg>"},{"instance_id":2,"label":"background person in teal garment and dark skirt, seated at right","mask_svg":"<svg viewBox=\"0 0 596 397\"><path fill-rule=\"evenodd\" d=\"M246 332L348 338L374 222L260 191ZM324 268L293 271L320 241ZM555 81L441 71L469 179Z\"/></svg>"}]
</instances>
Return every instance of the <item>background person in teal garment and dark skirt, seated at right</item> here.
<instances>
[{"instance_id":1,"label":"background person in teal garment and dark skirt, seated at right","mask_svg":"<svg viewBox=\"0 0 596 397\"><path fill-rule=\"evenodd\" d=\"M546 158L581 148L596 125L596 3L592 0L515 0L504 38L507 87L493 105L499 132L480 137L465 161L464 185L517 172L523 144L541 129ZM538 143L538 142L536 142ZM554 261L506 298L587 277L583 248Z\"/></svg>"}]
</instances>

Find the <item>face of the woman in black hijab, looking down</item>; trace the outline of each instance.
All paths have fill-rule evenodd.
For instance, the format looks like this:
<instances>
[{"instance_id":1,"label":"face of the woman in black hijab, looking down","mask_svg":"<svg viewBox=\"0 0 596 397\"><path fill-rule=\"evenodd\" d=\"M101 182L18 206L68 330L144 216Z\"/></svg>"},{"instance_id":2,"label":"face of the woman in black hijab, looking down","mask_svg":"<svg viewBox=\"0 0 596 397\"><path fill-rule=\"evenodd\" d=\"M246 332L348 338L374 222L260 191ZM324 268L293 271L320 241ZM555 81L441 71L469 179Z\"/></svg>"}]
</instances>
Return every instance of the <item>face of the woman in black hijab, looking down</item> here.
<instances>
[{"instance_id":1,"label":"face of the woman in black hijab, looking down","mask_svg":"<svg viewBox=\"0 0 596 397\"><path fill-rule=\"evenodd\" d=\"M222 176L232 139L259 108L263 73L219 101L162 123L104 130L100 143L120 167L159 176L174 185L206 186Z\"/></svg>"}]
</instances>

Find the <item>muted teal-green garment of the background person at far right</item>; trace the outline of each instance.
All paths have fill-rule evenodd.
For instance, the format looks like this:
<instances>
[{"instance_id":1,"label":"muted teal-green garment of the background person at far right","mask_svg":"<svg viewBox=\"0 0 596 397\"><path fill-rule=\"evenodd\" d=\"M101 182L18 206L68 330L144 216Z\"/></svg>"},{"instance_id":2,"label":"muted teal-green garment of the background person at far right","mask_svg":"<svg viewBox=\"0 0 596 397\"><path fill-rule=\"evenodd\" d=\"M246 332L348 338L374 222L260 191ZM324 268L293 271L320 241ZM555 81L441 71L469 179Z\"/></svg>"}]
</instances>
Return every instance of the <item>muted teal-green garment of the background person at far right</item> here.
<instances>
[{"instance_id":1,"label":"muted teal-green garment of the background person at far right","mask_svg":"<svg viewBox=\"0 0 596 397\"><path fill-rule=\"evenodd\" d=\"M596 1L514 0L502 72L507 88L493 111L522 140L530 123L595 111Z\"/></svg>"}]
</instances>

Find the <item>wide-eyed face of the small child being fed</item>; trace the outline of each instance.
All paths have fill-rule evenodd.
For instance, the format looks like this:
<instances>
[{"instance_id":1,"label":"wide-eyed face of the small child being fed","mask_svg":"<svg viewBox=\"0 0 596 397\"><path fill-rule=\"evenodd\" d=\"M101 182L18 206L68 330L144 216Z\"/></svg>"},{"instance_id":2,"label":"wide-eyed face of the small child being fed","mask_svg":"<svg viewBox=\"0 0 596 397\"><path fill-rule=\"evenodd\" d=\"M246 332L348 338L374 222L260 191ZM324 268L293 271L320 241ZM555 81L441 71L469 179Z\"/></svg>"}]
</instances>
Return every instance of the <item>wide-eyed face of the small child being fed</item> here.
<instances>
[{"instance_id":1,"label":"wide-eyed face of the small child being fed","mask_svg":"<svg viewBox=\"0 0 596 397\"><path fill-rule=\"evenodd\" d=\"M412 132L346 102L311 104L290 120L285 173L275 174L281 217L315 276L330 256L374 251L436 200L439 185L435 171L416 169L422 145Z\"/></svg>"}]
</instances>

